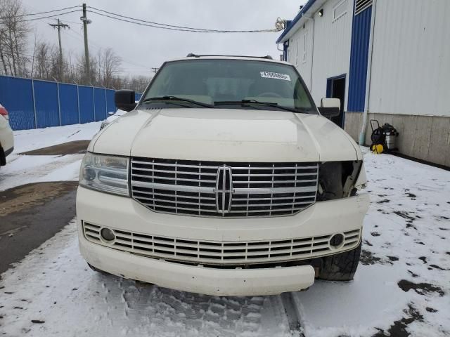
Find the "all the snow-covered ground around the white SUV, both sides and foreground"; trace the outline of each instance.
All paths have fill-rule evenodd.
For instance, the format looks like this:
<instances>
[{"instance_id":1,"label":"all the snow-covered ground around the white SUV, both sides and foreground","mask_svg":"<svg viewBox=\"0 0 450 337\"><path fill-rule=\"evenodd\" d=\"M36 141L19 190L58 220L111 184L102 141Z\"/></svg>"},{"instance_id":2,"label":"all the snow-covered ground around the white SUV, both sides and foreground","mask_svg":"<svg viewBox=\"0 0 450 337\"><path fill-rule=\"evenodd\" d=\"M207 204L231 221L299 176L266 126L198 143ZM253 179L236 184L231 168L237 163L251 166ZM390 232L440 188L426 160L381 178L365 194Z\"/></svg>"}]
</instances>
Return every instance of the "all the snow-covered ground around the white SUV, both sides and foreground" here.
<instances>
[{"instance_id":1,"label":"all the snow-covered ground around the white SUV, both sides and foreground","mask_svg":"<svg viewBox=\"0 0 450 337\"><path fill-rule=\"evenodd\" d=\"M16 133L15 152L90 138L98 124L46 130L48 135ZM79 155L49 156L36 164L38 159L26 159L35 156L13 154L8 165L27 162L7 172L19 180L16 185L75 179L80 157L73 156ZM293 293L304 335L450 336L450 172L386 154L366 152L365 160L372 203L359 269L353 282L317 281ZM7 185L0 178L0 190ZM1 275L1 333L296 336L298 331L290 331L280 296L215 298L99 275L79 256L70 223Z\"/></svg>"}]
</instances>

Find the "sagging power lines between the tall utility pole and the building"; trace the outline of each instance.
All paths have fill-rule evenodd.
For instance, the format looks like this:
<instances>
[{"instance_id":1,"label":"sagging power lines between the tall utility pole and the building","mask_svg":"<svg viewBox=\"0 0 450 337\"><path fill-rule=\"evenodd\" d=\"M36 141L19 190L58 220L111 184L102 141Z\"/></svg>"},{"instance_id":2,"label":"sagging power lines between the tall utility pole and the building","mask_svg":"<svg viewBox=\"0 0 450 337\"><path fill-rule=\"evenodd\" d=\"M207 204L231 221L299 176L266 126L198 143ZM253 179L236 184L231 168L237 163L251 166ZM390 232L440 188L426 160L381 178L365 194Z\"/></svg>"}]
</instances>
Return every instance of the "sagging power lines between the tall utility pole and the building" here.
<instances>
[{"instance_id":1,"label":"sagging power lines between the tall utility pole and the building","mask_svg":"<svg viewBox=\"0 0 450 337\"><path fill-rule=\"evenodd\" d=\"M93 8L94 7L89 7ZM124 15L115 14L112 13L112 16L104 13L98 13L96 11L89 10L90 13L94 13L96 15L101 15L106 18L111 18L114 20L119 20L123 22L129 22L133 23L134 25L141 25L146 27L153 27L153 28L159 28L159 29L167 29L167 30L174 30L178 32L197 32L197 33L264 33L264 32L278 32L278 29L250 29L250 30L218 30L218 29L203 29L203 28L191 28L191 27L183 27L183 26L172 26L172 25L165 25L157 22L148 23L150 21L145 21L141 19L135 19L135 18L129 18L125 17ZM110 13L110 12L107 12ZM129 20L128 20L129 19Z\"/></svg>"}]
</instances>

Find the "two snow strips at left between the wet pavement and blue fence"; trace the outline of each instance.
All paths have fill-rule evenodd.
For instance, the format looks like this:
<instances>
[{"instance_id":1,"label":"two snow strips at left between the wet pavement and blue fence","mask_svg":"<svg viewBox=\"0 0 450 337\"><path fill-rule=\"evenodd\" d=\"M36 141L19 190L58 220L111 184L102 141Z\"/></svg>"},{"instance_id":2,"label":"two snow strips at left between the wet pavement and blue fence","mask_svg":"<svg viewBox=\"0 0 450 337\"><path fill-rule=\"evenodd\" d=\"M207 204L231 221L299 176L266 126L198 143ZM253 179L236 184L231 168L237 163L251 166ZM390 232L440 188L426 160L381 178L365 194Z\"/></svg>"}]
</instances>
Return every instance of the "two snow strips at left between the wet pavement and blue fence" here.
<instances>
[{"instance_id":1,"label":"two snow strips at left between the wet pavement and blue fence","mask_svg":"<svg viewBox=\"0 0 450 337\"><path fill-rule=\"evenodd\" d=\"M0 190L42 181L77 180L82 154L29 156L19 154L42 147L91 139L101 122L14 131L14 152L0 168Z\"/></svg>"}]
</instances>

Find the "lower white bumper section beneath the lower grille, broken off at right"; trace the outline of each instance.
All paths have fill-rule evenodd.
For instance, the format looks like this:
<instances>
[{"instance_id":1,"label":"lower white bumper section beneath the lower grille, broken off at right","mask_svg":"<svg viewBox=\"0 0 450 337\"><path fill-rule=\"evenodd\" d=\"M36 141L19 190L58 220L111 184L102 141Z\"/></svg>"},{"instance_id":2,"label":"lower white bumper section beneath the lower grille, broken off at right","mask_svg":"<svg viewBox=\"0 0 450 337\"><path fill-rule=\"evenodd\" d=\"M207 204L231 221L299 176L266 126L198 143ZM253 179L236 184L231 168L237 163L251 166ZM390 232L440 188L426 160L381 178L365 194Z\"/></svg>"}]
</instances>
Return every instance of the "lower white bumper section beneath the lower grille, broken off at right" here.
<instances>
[{"instance_id":1,"label":"lower white bumper section beneath the lower grille, broken off at right","mask_svg":"<svg viewBox=\"0 0 450 337\"><path fill-rule=\"evenodd\" d=\"M272 295L306 289L314 283L311 265L252 270L215 269L136 256L91 244L82 238L79 248L88 263L113 275L212 296Z\"/></svg>"}]
</instances>

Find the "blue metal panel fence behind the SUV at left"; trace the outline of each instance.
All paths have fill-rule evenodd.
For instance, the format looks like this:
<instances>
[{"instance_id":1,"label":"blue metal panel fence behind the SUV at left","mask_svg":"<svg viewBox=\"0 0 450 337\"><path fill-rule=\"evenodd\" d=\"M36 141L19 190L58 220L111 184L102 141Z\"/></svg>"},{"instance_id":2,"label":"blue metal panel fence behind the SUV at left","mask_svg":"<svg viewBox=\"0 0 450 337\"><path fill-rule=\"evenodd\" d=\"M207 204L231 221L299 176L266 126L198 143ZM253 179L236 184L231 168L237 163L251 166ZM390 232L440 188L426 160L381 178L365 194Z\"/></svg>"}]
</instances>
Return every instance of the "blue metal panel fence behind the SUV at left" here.
<instances>
[{"instance_id":1,"label":"blue metal panel fence behind the SUV at left","mask_svg":"<svg viewBox=\"0 0 450 337\"><path fill-rule=\"evenodd\" d=\"M115 112L114 90L0 76L0 103L13 130L101 121ZM141 98L136 93L136 100Z\"/></svg>"}]
</instances>

